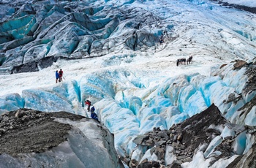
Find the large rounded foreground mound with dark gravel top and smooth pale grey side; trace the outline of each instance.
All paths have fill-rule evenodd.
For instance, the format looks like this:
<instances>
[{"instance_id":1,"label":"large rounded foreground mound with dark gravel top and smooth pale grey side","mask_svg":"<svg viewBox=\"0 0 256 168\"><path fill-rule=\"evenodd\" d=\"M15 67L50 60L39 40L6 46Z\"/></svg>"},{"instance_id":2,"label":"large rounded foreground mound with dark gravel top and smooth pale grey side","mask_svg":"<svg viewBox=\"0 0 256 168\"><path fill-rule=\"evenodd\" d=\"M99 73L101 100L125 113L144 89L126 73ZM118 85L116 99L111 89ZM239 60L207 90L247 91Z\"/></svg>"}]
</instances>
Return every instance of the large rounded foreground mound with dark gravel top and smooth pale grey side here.
<instances>
[{"instance_id":1,"label":"large rounded foreground mound with dark gravel top and smooth pale grey side","mask_svg":"<svg viewBox=\"0 0 256 168\"><path fill-rule=\"evenodd\" d=\"M0 127L0 167L124 167L113 134L81 115L19 109Z\"/></svg>"}]
</instances>

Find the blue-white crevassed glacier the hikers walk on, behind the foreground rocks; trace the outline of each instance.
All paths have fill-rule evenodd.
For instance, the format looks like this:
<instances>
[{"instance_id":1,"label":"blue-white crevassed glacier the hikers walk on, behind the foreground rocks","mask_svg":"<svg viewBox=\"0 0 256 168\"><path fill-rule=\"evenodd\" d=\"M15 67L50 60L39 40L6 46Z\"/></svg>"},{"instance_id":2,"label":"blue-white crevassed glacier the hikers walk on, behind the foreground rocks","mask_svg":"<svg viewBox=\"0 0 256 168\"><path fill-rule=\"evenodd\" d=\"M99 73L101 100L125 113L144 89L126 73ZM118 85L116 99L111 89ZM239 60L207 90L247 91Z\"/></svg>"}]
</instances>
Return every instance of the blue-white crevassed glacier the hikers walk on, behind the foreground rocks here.
<instances>
[{"instance_id":1,"label":"blue-white crevassed glacier the hikers walk on, behind the foreground rocks","mask_svg":"<svg viewBox=\"0 0 256 168\"><path fill-rule=\"evenodd\" d=\"M114 134L117 155L131 160L127 167L132 160L159 159L152 151L160 149L136 145L136 137L169 130L211 104L230 123L255 126L253 12L194 0L16 2L4 0L0 7L1 114L27 108L89 118L84 101L90 99ZM255 7L243 2L232 1ZM188 56L192 64L176 66ZM60 68L64 82L56 84ZM255 135L238 135L232 127L211 126L220 134L181 167L227 167L250 155ZM211 165L227 137L234 140L233 156ZM60 150L69 150L63 145ZM165 166L178 160L174 150L166 147Z\"/></svg>"}]
</instances>

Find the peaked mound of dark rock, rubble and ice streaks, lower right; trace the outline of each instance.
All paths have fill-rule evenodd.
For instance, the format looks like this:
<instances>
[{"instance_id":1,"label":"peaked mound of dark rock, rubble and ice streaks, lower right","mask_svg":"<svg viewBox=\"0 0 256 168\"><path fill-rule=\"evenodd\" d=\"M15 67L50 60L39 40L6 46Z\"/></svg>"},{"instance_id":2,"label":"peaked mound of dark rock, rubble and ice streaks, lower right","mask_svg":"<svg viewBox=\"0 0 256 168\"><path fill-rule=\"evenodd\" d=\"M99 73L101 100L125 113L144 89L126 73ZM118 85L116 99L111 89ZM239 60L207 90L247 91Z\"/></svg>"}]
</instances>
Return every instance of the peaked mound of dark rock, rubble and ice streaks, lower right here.
<instances>
[{"instance_id":1,"label":"peaked mound of dark rock, rubble and ice streaks, lower right","mask_svg":"<svg viewBox=\"0 0 256 168\"><path fill-rule=\"evenodd\" d=\"M223 131L225 129L230 129L235 134L227 135L227 132ZM207 110L173 125L169 130L154 128L153 131L136 137L133 142L138 145L137 148L147 149L146 151L150 151L151 156L157 159L132 159L129 167L144 167L145 164L147 167L154 167L156 161L159 163L157 167L181 167L181 164L191 162L198 151L203 152L205 159L211 159L211 167L219 159L228 159L234 154L241 156L243 152L240 153L234 146L238 145L238 139L244 136L244 132L255 136L255 131L252 130L256 129L229 123L212 104ZM247 162L252 165L255 153L253 150L243 151L247 154L238 159L249 159ZM234 161L233 166L239 167L238 165L244 163L238 159Z\"/></svg>"}]
</instances>

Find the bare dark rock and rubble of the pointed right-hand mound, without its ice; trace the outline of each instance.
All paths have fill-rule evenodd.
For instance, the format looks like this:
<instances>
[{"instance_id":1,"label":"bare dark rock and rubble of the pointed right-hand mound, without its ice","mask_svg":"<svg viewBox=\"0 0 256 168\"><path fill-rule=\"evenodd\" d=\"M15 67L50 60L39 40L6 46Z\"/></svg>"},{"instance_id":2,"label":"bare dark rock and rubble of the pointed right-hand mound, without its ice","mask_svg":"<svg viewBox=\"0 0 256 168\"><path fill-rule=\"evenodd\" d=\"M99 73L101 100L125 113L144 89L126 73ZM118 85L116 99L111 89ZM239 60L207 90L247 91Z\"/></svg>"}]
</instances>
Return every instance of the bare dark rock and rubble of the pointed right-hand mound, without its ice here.
<instances>
[{"instance_id":1,"label":"bare dark rock and rubble of the pointed right-hand mound, without its ice","mask_svg":"<svg viewBox=\"0 0 256 168\"><path fill-rule=\"evenodd\" d=\"M193 153L198 150L200 145L206 144L203 146L204 148L200 148L200 150L204 152L206 148L208 148L208 144L211 142L211 140L221 134L220 131L214 129L214 127L211 126L221 126L223 128L228 126L229 128L232 128L234 131L236 131L237 134L245 131L244 126L238 126L228 122L224 117L222 117L222 113L219 112L219 109L214 104L211 104L207 110L204 110L197 115L193 115L191 118L188 118L184 122L173 125L172 129L167 130L170 132L170 140L165 140L165 136L163 136L165 135L163 134L164 132L167 135L167 131L165 130L155 131L154 134L148 133L151 135L153 142L157 145L157 147L151 148L151 154L156 153L159 162L161 162L160 158L165 158L165 153L162 153L162 151L165 151L166 144L171 143L171 146L173 147L172 153L176 155L177 161L170 165L170 167L181 167L182 163L192 161ZM253 131L256 129L249 128L249 126L246 129L252 130L251 132L256 132ZM235 154L232 148L233 141L233 137L226 137L225 140L222 140L222 142L217 145L216 148L214 148L215 151L219 151L221 154L219 156L211 155L213 159L210 165L214 164L214 162L219 159L229 158ZM242 161L240 162L242 163ZM248 163L253 165L252 160L248 161ZM145 166L146 164L143 165ZM148 167L151 167L150 165L151 164L147 164ZM139 166L142 167L142 164Z\"/></svg>"}]
</instances>

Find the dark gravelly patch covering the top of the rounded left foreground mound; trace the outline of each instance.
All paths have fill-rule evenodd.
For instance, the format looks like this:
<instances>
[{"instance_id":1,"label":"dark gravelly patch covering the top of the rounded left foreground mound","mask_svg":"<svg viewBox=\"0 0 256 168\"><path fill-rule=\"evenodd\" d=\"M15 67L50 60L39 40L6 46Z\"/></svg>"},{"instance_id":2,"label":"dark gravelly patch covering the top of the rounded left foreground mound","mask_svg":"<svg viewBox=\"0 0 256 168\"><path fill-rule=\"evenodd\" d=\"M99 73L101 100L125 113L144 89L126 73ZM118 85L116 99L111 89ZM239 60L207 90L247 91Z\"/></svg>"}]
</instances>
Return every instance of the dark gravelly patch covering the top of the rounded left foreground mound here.
<instances>
[{"instance_id":1,"label":"dark gravelly patch covering the top of the rounded left foreground mound","mask_svg":"<svg viewBox=\"0 0 256 168\"><path fill-rule=\"evenodd\" d=\"M4 140L4 143L0 143L0 153L11 156L31 151L42 153L67 140L66 135L72 126L53 121L50 113L41 115L42 120L39 120L41 113L44 112L28 109L8 112L8 117L0 123L0 127L5 130L0 136L0 142ZM24 114L29 118L29 122L21 120L25 117Z\"/></svg>"}]
</instances>

